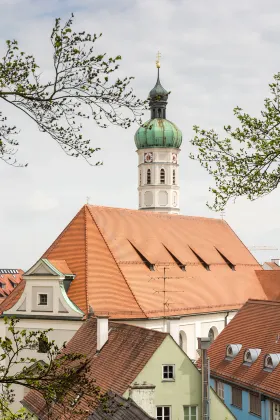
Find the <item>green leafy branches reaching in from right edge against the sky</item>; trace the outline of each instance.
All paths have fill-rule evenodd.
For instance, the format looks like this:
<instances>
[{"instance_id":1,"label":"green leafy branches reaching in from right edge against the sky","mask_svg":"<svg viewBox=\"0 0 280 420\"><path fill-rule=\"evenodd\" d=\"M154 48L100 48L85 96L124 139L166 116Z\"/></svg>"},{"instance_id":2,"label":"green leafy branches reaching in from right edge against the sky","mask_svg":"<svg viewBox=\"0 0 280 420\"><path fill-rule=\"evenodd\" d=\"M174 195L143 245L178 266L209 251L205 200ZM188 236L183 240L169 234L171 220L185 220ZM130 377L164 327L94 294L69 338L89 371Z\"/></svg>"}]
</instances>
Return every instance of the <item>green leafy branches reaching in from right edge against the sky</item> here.
<instances>
[{"instance_id":1,"label":"green leafy branches reaching in from right edge against the sky","mask_svg":"<svg viewBox=\"0 0 280 420\"><path fill-rule=\"evenodd\" d=\"M280 73L269 85L271 96L264 101L261 117L251 117L239 107L234 115L239 127L225 126L221 139L213 130L194 126L191 143L197 147L197 159L213 176L215 196L208 206L224 209L229 199L246 196L249 200L269 194L280 182Z\"/></svg>"}]
</instances>

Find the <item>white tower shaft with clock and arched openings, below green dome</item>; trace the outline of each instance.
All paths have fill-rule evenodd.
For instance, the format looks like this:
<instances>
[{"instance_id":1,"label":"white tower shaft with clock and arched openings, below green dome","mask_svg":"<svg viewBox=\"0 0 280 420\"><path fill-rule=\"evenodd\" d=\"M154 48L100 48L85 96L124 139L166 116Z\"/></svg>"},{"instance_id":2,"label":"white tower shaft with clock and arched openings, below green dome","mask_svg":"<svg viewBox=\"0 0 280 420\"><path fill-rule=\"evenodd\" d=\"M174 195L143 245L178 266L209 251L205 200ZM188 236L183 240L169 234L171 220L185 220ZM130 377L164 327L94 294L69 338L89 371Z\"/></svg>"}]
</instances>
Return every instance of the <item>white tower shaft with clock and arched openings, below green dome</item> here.
<instances>
[{"instance_id":1,"label":"white tower shaft with clock and arched openings, below green dome","mask_svg":"<svg viewBox=\"0 0 280 420\"><path fill-rule=\"evenodd\" d=\"M180 213L180 149L146 148L137 150L137 153L139 210Z\"/></svg>"}]
</instances>

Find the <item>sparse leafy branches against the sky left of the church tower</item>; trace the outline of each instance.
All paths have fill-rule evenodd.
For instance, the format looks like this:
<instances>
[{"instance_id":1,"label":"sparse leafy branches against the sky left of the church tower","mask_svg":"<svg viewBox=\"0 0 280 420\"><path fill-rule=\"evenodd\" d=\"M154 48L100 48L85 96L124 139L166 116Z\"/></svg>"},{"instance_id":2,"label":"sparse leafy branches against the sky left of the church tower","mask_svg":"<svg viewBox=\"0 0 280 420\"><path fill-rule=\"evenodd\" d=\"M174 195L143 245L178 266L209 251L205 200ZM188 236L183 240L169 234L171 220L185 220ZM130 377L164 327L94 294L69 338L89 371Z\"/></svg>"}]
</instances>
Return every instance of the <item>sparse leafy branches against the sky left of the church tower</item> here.
<instances>
[{"instance_id":1,"label":"sparse leafy branches against the sky left of the church tower","mask_svg":"<svg viewBox=\"0 0 280 420\"><path fill-rule=\"evenodd\" d=\"M67 154L88 160L99 148L84 139L83 120L93 119L103 128L109 124L128 128L141 122L144 103L130 88L132 77L119 79L113 74L121 56L95 55L95 42L102 34L73 32L72 25L73 15L65 25L55 21L50 37L53 77L47 82L42 81L35 58L20 51L17 41L7 41L0 61L0 100L22 111ZM17 164L17 134L17 127L9 125L0 110L0 158L12 165Z\"/></svg>"}]
</instances>

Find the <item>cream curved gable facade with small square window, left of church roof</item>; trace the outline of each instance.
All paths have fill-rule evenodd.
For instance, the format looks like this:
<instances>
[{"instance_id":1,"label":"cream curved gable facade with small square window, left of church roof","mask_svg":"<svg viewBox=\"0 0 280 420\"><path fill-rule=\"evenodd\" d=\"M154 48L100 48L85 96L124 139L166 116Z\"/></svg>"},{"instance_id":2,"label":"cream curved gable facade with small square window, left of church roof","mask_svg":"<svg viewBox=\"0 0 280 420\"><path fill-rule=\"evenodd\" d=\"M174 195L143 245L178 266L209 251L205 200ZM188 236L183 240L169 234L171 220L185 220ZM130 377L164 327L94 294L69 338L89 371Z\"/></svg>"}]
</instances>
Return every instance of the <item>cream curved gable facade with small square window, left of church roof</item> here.
<instances>
[{"instance_id":1,"label":"cream curved gable facade with small square window, left of church roof","mask_svg":"<svg viewBox=\"0 0 280 420\"><path fill-rule=\"evenodd\" d=\"M54 340L58 347L62 347L80 328L84 317L84 313L66 293L74 279L75 275L71 273L65 261L56 261L54 264L47 259L40 259L24 273L25 287L19 300L2 314L0 336L10 336L4 316L15 316L19 319L16 327L19 330L43 331L51 328L52 331L48 333L49 340ZM39 345L37 349L26 350L21 356L47 362L46 354L40 350ZM22 408L20 401L24 398L25 389L18 385L13 386L13 389L16 398L11 409L16 411Z\"/></svg>"}]
</instances>

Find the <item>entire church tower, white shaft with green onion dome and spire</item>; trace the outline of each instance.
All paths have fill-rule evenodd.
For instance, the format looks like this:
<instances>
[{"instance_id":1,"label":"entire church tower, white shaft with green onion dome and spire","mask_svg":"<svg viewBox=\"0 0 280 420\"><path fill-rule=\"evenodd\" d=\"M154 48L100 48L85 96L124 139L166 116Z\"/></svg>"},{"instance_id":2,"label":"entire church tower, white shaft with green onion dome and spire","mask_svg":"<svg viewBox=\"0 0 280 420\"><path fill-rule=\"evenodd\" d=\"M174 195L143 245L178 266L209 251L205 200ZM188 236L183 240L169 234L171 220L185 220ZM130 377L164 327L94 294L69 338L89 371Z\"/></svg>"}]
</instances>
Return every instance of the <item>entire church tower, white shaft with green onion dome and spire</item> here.
<instances>
[{"instance_id":1,"label":"entire church tower, white shaft with green onion dome and spire","mask_svg":"<svg viewBox=\"0 0 280 420\"><path fill-rule=\"evenodd\" d=\"M149 94L151 118L135 134L138 153L139 210L180 212L179 153L182 133L166 119L168 92L158 77Z\"/></svg>"}]
</instances>

